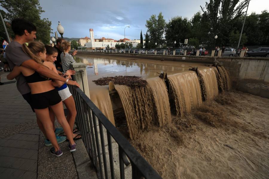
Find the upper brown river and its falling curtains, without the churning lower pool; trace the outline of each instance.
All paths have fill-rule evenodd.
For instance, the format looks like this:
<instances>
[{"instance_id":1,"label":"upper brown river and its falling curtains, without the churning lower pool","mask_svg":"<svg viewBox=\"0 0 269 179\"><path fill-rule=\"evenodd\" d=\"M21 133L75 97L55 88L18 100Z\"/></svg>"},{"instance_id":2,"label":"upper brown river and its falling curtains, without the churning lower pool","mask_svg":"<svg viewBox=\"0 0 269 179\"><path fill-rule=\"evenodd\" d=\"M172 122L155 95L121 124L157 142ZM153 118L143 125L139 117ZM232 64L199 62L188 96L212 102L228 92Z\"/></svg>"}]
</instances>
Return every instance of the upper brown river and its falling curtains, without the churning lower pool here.
<instances>
[{"instance_id":1,"label":"upper brown river and its falling curtains, without the churning lower pool","mask_svg":"<svg viewBox=\"0 0 269 179\"><path fill-rule=\"evenodd\" d=\"M115 126L124 123L123 129L128 131L131 139L138 138L152 125L162 127L171 123L171 112L182 117L198 108L202 101L210 101L218 93L230 89L228 73L221 66L94 57L83 59L83 62L88 64L88 83L94 104ZM198 70L191 71L189 66ZM166 79L158 77L161 71L167 73ZM115 92L111 93L108 86L97 86L92 82L101 77L119 75L142 76L147 85L135 88L115 85Z\"/></svg>"}]
</instances>

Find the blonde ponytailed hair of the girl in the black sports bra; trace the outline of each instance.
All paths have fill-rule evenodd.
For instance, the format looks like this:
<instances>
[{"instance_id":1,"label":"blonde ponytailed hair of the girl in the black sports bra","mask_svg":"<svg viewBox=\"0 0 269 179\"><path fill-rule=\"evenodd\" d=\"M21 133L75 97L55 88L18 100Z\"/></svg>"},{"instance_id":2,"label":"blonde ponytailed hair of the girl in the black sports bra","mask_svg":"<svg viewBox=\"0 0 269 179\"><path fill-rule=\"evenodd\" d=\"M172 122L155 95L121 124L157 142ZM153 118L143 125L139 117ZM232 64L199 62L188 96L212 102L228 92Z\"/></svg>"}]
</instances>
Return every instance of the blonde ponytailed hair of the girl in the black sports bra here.
<instances>
[{"instance_id":1,"label":"blonde ponytailed hair of the girl in the black sports bra","mask_svg":"<svg viewBox=\"0 0 269 179\"><path fill-rule=\"evenodd\" d=\"M38 56L39 52L44 53L46 51L45 45L41 41L31 41L22 45L22 50L29 55L34 61L42 64L41 59Z\"/></svg>"}]
</instances>

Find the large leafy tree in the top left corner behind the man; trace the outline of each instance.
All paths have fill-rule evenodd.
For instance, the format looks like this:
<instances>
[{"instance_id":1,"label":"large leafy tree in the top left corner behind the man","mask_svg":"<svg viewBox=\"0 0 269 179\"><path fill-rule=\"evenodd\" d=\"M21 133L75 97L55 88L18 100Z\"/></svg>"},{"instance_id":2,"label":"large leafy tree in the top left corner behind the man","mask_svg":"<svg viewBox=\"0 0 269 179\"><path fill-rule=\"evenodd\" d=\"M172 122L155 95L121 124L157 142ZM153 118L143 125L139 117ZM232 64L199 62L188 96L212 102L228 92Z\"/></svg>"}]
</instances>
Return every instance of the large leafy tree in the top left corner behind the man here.
<instances>
[{"instance_id":1,"label":"large leafy tree in the top left corner behind the man","mask_svg":"<svg viewBox=\"0 0 269 179\"><path fill-rule=\"evenodd\" d=\"M4 20L11 24L14 18L25 18L32 22L37 29L37 40L44 44L49 44L51 33L51 21L48 18L40 18L40 14L45 12L39 4L39 0L0 0L1 6L6 9ZM14 38L10 26L7 26L9 35Z\"/></svg>"}]
</instances>

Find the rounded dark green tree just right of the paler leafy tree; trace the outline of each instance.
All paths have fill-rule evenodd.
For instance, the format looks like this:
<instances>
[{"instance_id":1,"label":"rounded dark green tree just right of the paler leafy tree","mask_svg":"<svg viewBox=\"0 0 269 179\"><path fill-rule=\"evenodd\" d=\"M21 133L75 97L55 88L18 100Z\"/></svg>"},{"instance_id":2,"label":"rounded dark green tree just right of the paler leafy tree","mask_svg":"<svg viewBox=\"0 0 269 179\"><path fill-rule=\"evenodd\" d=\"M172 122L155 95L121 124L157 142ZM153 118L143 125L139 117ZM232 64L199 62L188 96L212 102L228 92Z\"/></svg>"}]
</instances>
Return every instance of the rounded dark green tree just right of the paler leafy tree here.
<instances>
[{"instance_id":1,"label":"rounded dark green tree just right of the paler leafy tree","mask_svg":"<svg viewBox=\"0 0 269 179\"><path fill-rule=\"evenodd\" d=\"M181 16L172 17L165 27L167 46L174 46L174 41L177 42L176 45L183 43L184 39L189 37L190 29L190 23L187 18L182 18Z\"/></svg>"}]
</instances>

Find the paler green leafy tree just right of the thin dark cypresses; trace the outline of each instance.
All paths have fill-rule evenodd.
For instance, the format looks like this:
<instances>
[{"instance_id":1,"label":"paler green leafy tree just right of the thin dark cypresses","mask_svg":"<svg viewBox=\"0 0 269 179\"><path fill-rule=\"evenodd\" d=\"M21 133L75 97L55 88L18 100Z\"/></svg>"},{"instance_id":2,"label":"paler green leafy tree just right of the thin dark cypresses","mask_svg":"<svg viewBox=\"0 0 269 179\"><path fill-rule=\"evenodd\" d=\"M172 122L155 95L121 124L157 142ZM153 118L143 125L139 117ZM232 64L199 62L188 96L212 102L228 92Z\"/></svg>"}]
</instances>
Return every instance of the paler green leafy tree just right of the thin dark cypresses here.
<instances>
[{"instance_id":1,"label":"paler green leafy tree just right of the thin dark cypresses","mask_svg":"<svg viewBox=\"0 0 269 179\"><path fill-rule=\"evenodd\" d=\"M155 47L155 43L163 44L163 33L166 22L163 18L162 12L159 13L158 17L152 15L149 20L146 20L146 27L149 33L149 47Z\"/></svg>"}]
</instances>

